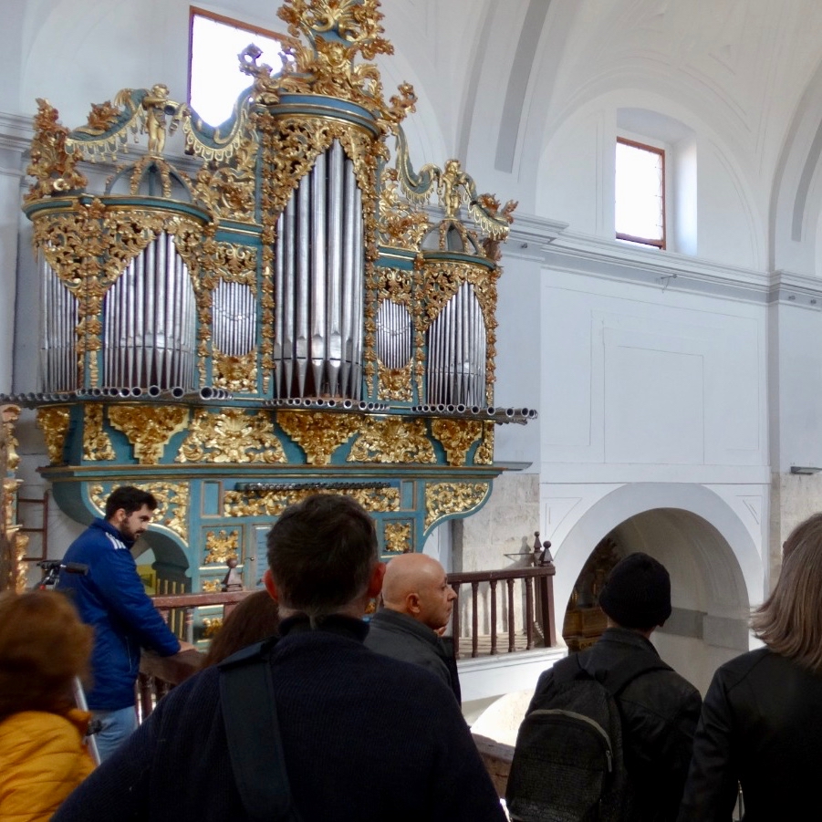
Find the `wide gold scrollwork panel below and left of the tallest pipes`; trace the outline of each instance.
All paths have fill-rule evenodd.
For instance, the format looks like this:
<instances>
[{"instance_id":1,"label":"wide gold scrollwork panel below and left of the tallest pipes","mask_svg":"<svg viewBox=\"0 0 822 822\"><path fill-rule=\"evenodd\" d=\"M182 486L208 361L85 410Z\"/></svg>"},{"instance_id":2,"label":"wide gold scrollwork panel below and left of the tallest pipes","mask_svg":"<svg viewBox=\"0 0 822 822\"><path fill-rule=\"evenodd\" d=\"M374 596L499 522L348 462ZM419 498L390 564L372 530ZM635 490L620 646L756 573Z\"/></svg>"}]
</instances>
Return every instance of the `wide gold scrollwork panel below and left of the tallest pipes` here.
<instances>
[{"instance_id":1,"label":"wide gold scrollwork panel below and left of the tallest pipes","mask_svg":"<svg viewBox=\"0 0 822 822\"><path fill-rule=\"evenodd\" d=\"M266 411L197 409L177 463L286 463Z\"/></svg>"}]
</instances>

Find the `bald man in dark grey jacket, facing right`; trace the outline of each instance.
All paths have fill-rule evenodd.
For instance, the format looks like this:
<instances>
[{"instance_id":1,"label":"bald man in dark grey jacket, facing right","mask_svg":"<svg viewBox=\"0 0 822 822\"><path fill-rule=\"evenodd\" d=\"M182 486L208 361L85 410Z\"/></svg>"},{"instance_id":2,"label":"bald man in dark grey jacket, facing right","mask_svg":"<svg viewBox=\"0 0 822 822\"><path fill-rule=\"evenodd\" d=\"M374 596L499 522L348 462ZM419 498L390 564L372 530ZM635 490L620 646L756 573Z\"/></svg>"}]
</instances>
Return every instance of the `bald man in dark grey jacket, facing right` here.
<instances>
[{"instance_id":1,"label":"bald man in dark grey jacket, facing right","mask_svg":"<svg viewBox=\"0 0 822 822\"><path fill-rule=\"evenodd\" d=\"M424 554L394 557L382 583L383 607L371 618L365 644L431 671L460 702L456 662L439 635L451 621L456 598L436 559Z\"/></svg>"}]
</instances>

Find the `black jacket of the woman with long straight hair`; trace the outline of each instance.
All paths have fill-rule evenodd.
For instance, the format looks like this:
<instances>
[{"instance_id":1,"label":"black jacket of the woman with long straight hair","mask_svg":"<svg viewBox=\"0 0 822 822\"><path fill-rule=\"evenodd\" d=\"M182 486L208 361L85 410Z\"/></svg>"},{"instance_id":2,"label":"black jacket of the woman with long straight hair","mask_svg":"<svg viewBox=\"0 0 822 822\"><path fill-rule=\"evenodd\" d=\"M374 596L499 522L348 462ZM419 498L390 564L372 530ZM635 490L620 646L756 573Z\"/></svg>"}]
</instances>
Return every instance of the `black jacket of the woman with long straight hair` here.
<instances>
[{"instance_id":1,"label":"black jacket of the woman with long straight hair","mask_svg":"<svg viewBox=\"0 0 822 822\"><path fill-rule=\"evenodd\" d=\"M753 650L713 675L679 818L729 822L737 783L745 822L814 817L820 767L822 676Z\"/></svg>"}]
</instances>

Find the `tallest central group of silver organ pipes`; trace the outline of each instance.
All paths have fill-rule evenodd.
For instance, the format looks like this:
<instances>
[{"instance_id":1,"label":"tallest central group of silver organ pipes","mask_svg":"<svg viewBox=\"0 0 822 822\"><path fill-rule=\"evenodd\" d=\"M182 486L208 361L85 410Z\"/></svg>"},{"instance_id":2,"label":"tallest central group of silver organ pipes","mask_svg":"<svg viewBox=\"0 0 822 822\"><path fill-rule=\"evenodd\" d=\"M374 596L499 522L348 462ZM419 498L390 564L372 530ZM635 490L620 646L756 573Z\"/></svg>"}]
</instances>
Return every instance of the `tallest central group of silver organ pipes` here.
<instances>
[{"instance_id":1,"label":"tallest central group of silver organ pipes","mask_svg":"<svg viewBox=\"0 0 822 822\"><path fill-rule=\"evenodd\" d=\"M279 397L359 399L363 328L362 197L334 140L277 223L276 390Z\"/></svg>"}]
</instances>

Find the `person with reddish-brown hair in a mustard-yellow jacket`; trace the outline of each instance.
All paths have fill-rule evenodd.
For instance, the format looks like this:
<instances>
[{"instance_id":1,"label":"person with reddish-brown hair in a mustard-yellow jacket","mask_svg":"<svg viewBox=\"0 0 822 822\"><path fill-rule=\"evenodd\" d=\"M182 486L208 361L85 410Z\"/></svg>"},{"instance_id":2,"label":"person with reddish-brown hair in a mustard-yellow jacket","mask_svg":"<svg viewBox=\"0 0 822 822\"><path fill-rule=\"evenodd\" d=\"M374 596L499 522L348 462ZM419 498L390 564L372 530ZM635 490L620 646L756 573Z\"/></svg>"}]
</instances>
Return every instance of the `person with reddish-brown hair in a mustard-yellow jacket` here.
<instances>
[{"instance_id":1,"label":"person with reddish-brown hair in a mustard-yellow jacket","mask_svg":"<svg viewBox=\"0 0 822 822\"><path fill-rule=\"evenodd\" d=\"M62 594L0 594L0 819L47 820L91 773L75 707L92 629Z\"/></svg>"}]
</instances>

